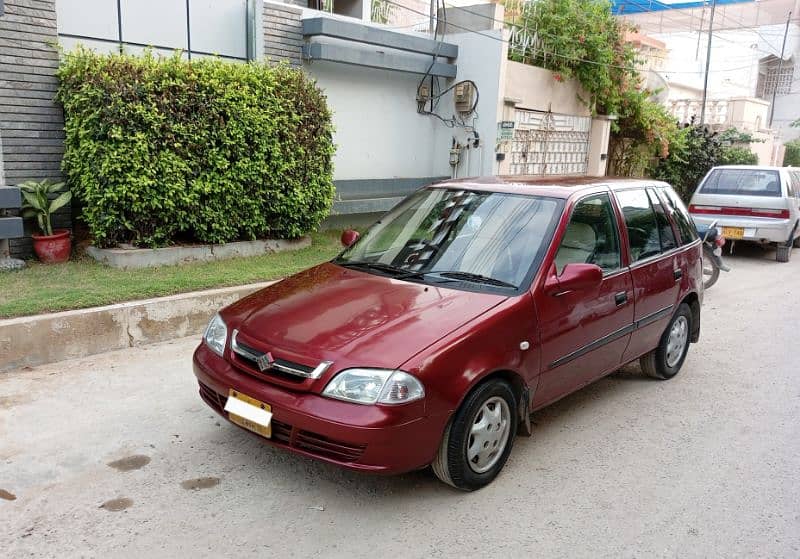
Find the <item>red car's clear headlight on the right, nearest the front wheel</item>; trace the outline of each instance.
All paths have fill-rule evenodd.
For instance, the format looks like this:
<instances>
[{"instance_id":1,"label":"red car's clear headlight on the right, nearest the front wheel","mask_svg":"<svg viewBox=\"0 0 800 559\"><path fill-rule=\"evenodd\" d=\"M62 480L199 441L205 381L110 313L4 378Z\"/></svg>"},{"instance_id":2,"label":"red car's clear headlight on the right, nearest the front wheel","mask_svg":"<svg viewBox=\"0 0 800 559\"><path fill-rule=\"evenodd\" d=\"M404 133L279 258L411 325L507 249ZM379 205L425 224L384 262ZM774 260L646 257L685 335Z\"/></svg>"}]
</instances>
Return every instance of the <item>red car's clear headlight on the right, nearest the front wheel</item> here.
<instances>
[{"instance_id":1,"label":"red car's clear headlight on the right, nearest the front wheel","mask_svg":"<svg viewBox=\"0 0 800 559\"><path fill-rule=\"evenodd\" d=\"M403 371L347 369L333 377L322 395L357 404L405 404L423 398L425 388Z\"/></svg>"}]
</instances>

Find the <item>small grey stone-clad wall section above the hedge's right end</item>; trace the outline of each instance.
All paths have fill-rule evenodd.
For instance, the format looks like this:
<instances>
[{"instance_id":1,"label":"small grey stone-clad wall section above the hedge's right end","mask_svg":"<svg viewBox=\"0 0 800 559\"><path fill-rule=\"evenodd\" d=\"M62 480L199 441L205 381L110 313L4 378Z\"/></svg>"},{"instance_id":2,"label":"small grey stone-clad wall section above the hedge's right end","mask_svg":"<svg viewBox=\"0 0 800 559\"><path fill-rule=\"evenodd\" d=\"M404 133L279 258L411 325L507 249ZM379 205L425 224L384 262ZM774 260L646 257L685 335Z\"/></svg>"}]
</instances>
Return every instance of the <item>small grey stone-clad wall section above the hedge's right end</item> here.
<instances>
[{"instance_id":1,"label":"small grey stone-clad wall section above the hedge's right end","mask_svg":"<svg viewBox=\"0 0 800 559\"><path fill-rule=\"evenodd\" d=\"M264 2L264 57L273 62L302 64L303 11L291 4Z\"/></svg>"}]
</instances>

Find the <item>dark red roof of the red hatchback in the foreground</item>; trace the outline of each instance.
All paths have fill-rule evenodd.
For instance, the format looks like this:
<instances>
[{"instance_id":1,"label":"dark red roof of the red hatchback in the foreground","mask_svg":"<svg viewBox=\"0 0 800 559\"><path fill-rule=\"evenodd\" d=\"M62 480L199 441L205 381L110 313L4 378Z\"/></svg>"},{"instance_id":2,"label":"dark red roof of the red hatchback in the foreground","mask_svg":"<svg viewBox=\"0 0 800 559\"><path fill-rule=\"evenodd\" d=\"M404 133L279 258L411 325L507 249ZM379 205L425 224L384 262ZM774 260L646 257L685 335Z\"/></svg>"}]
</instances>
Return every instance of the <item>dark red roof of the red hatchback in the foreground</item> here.
<instances>
[{"instance_id":1,"label":"dark red roof of the red hatchback in the foreground","mask_svg":"<svg viewBox=\"0 0 800 559\"><path fill-rule=\"evenodd\" d=\"M434 188L465 188L480 192L503 192L507 194L526 194L548 196L551 198L570 198L574 194L619 190L633 186L669 186L665 182L650 179L631 179L622 177L583 177L583 176L496 176L446 179L431 185Z\"/></svg>"}]
</instances>

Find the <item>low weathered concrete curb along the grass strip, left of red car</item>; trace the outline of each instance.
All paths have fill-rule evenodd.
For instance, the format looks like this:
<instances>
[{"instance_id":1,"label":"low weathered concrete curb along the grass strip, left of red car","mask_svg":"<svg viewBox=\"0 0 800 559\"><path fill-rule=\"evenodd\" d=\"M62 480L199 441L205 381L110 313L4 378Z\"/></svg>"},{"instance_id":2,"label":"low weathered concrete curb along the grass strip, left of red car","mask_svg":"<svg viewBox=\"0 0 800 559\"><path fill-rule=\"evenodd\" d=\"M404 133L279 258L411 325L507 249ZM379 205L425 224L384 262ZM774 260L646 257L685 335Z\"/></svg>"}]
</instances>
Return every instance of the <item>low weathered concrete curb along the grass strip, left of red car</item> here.
<instances>
[{"instance_id":1,"label":"low weathered concrete curb along the grass strip, left of red car","mask_svg":"<svg viewBox=\"0 0 800 559\"><path fill-rule=\"evenodd\" d=\"M264 282L0 320L0 373L200 333Z\"/></svg>"}]
</instances>

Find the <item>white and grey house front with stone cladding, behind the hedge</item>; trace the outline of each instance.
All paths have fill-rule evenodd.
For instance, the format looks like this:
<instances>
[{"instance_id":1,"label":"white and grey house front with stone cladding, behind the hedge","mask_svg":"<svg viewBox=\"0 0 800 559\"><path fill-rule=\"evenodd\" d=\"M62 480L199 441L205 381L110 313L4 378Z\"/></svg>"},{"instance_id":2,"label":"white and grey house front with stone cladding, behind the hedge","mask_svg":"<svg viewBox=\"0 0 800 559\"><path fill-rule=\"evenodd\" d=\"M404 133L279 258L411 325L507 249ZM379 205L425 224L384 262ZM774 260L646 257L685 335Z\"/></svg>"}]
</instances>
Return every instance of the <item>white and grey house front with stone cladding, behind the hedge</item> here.
<instances>
[{"instance_id":1,"label":"white and grey house front with stone cladding, behind the hedge","mask_svg":"<svg viewBox=\"0 0 800 559\"><path fill-rule=\"evenodd\" d=\"M604 174L610 122L575 82L508 60L503 7L424 0L4 0L0 135L6 179L59 178L55 45L149 48L302 67L333 109L339 221L371 219L432 181ZM299 4L299 5L298 5ZM68 226L70 215L59 216ZM30 224L29 224L30 225ZM29 241L12 252L25 255Z\"/></svg>"}]
</instances>

